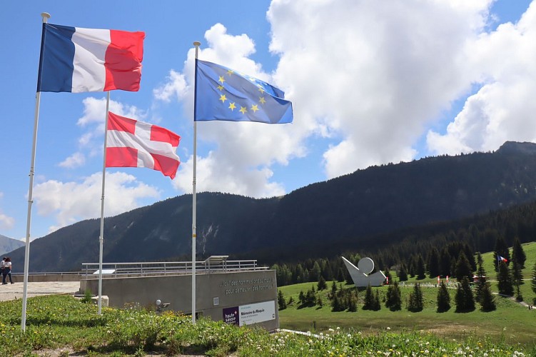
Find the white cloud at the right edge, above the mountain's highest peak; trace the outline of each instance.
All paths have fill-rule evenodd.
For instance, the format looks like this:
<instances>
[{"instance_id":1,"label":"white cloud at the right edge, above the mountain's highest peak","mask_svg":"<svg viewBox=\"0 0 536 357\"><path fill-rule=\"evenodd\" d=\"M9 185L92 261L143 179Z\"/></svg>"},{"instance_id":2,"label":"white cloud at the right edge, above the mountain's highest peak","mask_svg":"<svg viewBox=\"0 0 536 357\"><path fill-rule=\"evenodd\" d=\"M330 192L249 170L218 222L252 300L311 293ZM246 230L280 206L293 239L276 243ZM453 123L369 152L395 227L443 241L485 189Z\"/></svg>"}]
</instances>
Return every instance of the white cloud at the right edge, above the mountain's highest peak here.
<instances>
[{"instance_id":1,"label":"white cloud at the right edge, above the mountain's highest peak","mask_svg":"<svg viewBox=\"0 0 536 357\"><path fill-rule=\"evenodd\" d=\"M467 48L482 87L445 134L429 131L435 153L496 150L507 140L536 141L536 2L517 24L502 24Z\"/></svg>"}]
</instances>

